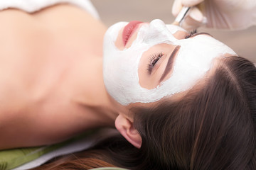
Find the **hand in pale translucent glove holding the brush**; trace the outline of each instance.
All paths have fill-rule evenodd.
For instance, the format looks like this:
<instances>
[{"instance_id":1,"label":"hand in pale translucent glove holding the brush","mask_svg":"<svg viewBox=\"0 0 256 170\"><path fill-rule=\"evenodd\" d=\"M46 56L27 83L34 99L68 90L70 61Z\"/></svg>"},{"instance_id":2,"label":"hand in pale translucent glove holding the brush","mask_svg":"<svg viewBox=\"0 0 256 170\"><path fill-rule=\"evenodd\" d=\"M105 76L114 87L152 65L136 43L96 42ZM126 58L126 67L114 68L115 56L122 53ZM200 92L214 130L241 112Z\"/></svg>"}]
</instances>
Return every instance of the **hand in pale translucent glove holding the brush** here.
<instances>
[{"instance_id":1,"label":"hand in pale translucent glove holding the brush","mask_svg":"<svg viewBox=\"0 0 256 170\"><path fill-rule=\"evenodd\" d=\"M174 16L182 6L193 6L181 23L186 30L200 26L245 29L256 25L256 0L175 0Z\"/></svg>"}]
</instances>

